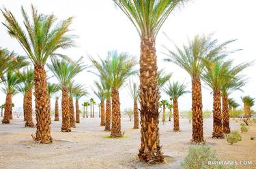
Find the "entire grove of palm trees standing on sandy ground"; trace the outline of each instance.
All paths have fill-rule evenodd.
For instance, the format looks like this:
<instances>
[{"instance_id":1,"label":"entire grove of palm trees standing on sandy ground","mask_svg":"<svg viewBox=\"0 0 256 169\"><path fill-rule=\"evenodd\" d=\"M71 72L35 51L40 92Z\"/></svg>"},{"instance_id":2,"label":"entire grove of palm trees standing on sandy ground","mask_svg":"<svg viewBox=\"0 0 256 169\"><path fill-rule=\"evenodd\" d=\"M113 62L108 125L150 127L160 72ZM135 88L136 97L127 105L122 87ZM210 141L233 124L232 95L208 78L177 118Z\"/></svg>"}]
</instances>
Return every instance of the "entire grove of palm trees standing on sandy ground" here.
<instances>
[{"instance_id":1,"label":"entire grove of palm trees standing on sandy ground","mask_svg":"<svg viewBox=\"0 0 256 169\"><path fill-rule=\"evenodd\" d=\"M113 0L115 5L128 17L139 33L141 39L141 55L139 70L137 58L126 52L110 51L106 57L89 56L92 67L84 64L82 59L72 60L60 49L75 46L76 36L70 34L72 17L61 20L51 15L38 13L31 6L31 18L21 8L23 22L18 22L8 9L1 10L5 22L3 25L8 34L18 41L26 56L19 56L8 49L0 49L0 75L3 92L6 95L5 111L2 123L9 124L12 119L12 97L18 92L23 94L23 111L25 126L36 126L33 139L39 143L52 143L51 136L51 104L55 98L55 121L59 120L59 98L61 98L61 132L71 132L79 124L79 100L87 96L86 88L74 81L74 77L82 71L91 71L98 77L94 84L94 94L100 100L100 125L111 132L111 137L122 137L121 103L119 90L128 86L134 102L134 129L141 132L139 159L144 162L163 162L159 135L159 113L162 110L162 121L165 122L166 108L173 109L173 130L180 131L178 100L183 94L191 92L192 128L191 143L205 143L203 136L203 104L201 81L212 91L213 95L213 132L212 137L223 138L229 133L229 95L235 90L242 90L246 78L242 71L251 64L233 64L227 56L238 50L227 50L229 43L235 40L219 42L213 35L196 35L181 47L175 45L174 50L165 45L165 61L182 67L191 77L191 91L186 83L170 81L172 73L158 71L156 56L156 37L168 16L187 1L128 1ZM23 27L25 29L23 29ZM29 68L25 68L29 67ZM46 69L54 75L58 83L48 83ZM22 70L22 71L21 71ZM139 78L139 83L131 79ZM130 80L129 80L130 79ZM168 83L167 83L168 82ZM170 98L160 100L160 92ZM35 97L35 120L33 122L32 95ZM75 99L75 102L73 101ZM222 99L222 101L221 101ZM250 115L250 107L254 98L244 96L244 111ZM138 105L139 102L139 105ZM75 105L75 106L74 106ZM83 117L94 117L96 102L91 98L83 102ZM139 108L140 107L140 108ZM85 111L86 108L86 111ZM139 119L140 115L140 119ZM171 120L171 111L169 115Z\"/></svg>"}]
</instances>

